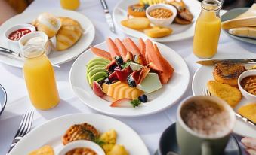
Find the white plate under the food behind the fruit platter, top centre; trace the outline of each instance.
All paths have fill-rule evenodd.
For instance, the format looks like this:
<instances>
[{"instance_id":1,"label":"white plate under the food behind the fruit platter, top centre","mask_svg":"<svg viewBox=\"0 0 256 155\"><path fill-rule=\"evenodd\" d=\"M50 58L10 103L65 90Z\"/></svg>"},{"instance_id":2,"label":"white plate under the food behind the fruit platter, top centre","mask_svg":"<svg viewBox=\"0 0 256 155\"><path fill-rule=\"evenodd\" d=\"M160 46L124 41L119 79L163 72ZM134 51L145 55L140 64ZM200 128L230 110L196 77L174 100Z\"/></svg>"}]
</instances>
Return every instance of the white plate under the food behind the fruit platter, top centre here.
<instances>
[{"instance_id":1,"label":"white plate under the food behind the fruit platter, top centre","mask_svg":"<svg viewBox=\"0 0 256 155\"><path fill-rule=\"evenodd\" d=\"M138 0L121 0L113 10L113 19L122 32L127 35L131 35L135 38L149 38L143 32L130 29L128 27L122 26L121 21L127 19L127 8L130 5L138 3ZM193 14L193 23L189 25L180 25L180 24L171 24L171 29L174 30L173 34L163 37L163 38L150 38L153 41L157 42L170 42L170 41L180 41L186 38L193 37L196 25L196 19L199 17L201 11L201 4L197 0L184 0L185 4L190 9Z\"/></svg>"}]
</instances>

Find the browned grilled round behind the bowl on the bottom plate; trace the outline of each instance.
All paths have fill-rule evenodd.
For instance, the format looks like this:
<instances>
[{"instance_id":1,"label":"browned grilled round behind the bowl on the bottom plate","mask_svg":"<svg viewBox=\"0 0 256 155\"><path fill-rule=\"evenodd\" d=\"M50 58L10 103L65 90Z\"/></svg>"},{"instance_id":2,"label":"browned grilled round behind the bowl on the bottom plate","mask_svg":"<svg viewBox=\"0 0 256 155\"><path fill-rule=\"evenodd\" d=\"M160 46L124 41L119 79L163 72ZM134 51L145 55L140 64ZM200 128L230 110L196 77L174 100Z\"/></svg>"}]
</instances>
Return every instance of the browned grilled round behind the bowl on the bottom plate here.
<instances>
[{"instance_id":1,"label":"browned grilled round behind the bowl on the bottom plate","mask_svg":"<svg viewBox=\"0 0 256 155\"><path fill-rule=\"evenodd\" d=\"M95 141L99 135L100 132L88 123L75 124L67 129L63 135L62 142L65 145L77 140Z\"/></svg>"}]
</instances>

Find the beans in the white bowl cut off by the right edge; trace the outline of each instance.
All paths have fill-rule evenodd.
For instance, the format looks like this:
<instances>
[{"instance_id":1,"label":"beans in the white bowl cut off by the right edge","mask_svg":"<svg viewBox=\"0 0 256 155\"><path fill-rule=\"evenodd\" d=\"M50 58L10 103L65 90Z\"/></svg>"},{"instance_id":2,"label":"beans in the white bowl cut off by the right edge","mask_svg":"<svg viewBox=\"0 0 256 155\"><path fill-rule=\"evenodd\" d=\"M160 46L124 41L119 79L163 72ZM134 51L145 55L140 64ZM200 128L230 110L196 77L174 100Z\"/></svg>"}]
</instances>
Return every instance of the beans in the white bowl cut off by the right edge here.
<instances>
[{"instance_id":1,"label":"beans in the white bowl cut off by the right edge","mask_svg":"<svg viewBox=\"0 0 256 155\"><path fill-rule=\"evenodd\" d=\"M248 93L256 96L256 75L243 78L241 81L241 86Z\"/></svg>"}]
</instances>

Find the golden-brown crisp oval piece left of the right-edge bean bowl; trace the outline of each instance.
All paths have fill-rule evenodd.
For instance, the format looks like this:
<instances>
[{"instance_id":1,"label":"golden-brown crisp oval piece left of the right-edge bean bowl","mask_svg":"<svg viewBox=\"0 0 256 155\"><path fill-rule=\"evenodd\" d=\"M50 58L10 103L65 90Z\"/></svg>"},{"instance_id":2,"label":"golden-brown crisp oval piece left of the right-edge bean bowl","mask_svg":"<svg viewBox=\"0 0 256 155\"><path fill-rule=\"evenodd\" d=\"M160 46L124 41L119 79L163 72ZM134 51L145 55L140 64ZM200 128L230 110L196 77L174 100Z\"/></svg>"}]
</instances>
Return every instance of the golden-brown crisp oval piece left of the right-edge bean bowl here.
<instances>
[{"instance_id":1,"label":"golden-brown crisp oval piece left of the right-edge bean bowl","mask_svg":"<svg viewBox=\"0 0 256 155\"><path fill-rule=\"evenodd\" d=\"M228 84L222 84L217 81L208 81L207 87L212 96L224 99L224 101L226 101L232 108L235 108L242 99L242 94L239 89Z\"/></svg>"}]
</instances>

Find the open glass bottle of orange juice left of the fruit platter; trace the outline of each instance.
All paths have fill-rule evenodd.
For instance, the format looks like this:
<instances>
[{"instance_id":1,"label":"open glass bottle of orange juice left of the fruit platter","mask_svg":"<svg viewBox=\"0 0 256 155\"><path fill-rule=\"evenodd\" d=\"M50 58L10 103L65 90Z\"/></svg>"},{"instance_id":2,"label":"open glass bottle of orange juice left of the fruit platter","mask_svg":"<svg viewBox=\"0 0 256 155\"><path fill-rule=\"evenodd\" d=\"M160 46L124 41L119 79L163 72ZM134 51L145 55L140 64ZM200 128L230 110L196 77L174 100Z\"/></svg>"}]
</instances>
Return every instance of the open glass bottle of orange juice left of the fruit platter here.
<instances>
[{"instance_id":1,"label":"open glass bottle of orange juice left of the fruit platter","mask_svg":"<svg viewBox=\"0 0 256 155\"><path fill-rule=\"evenodd\" d=\"M60 102L54 68L41 44L29 44L21 52L24 57L23 76L30 101L35 108L47 110Z\"/></svg>"}]
</instances>

